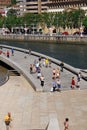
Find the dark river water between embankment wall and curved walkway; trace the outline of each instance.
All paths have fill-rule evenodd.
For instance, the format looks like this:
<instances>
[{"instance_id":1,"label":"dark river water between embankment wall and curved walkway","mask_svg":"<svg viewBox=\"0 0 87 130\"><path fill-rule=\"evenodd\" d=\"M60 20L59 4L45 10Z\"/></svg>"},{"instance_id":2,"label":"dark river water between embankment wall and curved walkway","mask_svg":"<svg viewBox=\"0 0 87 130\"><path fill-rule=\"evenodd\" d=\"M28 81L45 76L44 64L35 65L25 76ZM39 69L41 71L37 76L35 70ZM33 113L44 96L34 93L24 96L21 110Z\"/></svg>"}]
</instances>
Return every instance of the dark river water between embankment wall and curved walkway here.
<instances>
[{"instance_id":1,"label":"dark river water between embankment wall and curved walkway","mask_svg":"<svg viewBox=\"0 0 87 130\"><path fill-rule=\"evenodd\" d=\"M61 60L76 68L87 69L87 45L79 43L41 43L41 42L13 42L0 41L0 44L10 45L36 51L55 59Z\"/></svg>"}]
</instances>

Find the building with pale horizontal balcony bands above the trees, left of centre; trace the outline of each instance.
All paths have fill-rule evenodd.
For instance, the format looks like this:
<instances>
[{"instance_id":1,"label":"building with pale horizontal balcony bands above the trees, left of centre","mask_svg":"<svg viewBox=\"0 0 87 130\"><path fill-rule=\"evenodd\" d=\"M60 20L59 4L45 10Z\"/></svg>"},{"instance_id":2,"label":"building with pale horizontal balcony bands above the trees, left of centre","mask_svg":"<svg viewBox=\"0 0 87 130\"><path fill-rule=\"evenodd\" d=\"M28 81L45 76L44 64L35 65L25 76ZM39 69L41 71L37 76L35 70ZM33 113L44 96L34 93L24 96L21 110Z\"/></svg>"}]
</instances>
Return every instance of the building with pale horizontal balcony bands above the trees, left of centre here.
<instances>
[{"instance_id":1,"label":"building with pale horizontal balcony bands above the trees, left of centre","mask_svg":"<svg viewBox=\"0 0 87 130\"><path fill-rule=\"evenodd\" d=\"M48 0L17 0L19 14L47 12Z\"/></svg>"}]
</instances>

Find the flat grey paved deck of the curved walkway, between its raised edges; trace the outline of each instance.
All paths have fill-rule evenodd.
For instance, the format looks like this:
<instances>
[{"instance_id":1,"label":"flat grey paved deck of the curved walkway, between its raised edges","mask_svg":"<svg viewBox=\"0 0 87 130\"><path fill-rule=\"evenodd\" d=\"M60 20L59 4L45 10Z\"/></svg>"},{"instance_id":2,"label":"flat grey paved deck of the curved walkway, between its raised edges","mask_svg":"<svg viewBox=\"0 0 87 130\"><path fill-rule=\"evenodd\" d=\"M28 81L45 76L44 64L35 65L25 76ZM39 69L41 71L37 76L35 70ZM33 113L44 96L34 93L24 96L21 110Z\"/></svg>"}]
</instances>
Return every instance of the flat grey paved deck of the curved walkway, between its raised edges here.
<instances>
[{"instance_id":1,"label":"flat grey paved deck of the curved walkway, between its raised edges","mask_svg":"<svg viewBox=\"0 0 87 130\"><path fill-rule=\"evenodd\" d=\"M6 51L9 50L7 48L3 48L3 52L6 53ZM19 65L22 70L27 73L27 75L30 75L32 78L32 81L36 83L37 86L40 86L40 80L37 79L37 73L35 74L30 74L30 64L33 64L35 60L38 60L38 57L35 55L29 55L25 52L22 51L17 51L15 50L14 52L14 56L11 55L11 49L10 51L10 58L8 58L8 60L10 59L12 62L16 63L17 65ZM3 55L3 54L2 54ZM5 56L6 57L6 56ZM41 67L41 71L45 77L45 85L43 87L43 91L44 92L49 92L51 87L52 87L52 70L53 68L58 68L59 66L52 63L51 67ZM62 90L70 90L70 86L71 86L71 79L72 77L75 76L75 79L77 78L77 76L75 74L73 74L70 71L67 71L66 69L64 69L63 72L61 72L61 86L62 86ZM40 86L41 87L41 86ZM42 88L42 87L41 87ZM80 88L81 89L87 89L87 82L83 79L81 79L80 82Z\"/></svg>"}]
</instances>

